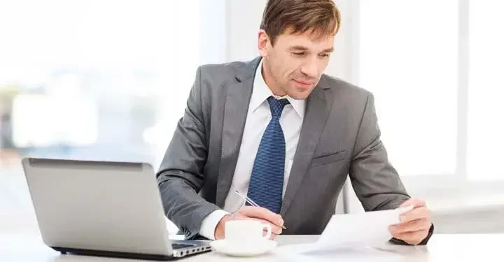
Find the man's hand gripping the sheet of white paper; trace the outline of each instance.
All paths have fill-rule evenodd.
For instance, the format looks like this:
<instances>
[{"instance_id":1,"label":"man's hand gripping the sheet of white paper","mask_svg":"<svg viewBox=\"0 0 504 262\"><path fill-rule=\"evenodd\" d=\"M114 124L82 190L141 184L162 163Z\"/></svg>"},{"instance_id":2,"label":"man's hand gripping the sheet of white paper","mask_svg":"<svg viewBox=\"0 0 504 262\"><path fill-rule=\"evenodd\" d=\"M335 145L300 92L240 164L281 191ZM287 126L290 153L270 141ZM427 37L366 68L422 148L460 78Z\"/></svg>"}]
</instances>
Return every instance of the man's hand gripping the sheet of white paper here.
<instances>
[{"instance_id":1,"label":"man's hand gripping the sheet of white paper","mask_svg":"<svg viewBox=\"0 0 504 262\"><path fill-rule=\"evenodd\" d=\"M406 207L412 205L413 209L400 216L400 224L391 225L388 230L394 238L407 242L409 245L419 245L428 233L432 221L430 221L430 210L426 207L425 201L420 199L409 199L400 205Z\"/></svg>"}]
</instances>

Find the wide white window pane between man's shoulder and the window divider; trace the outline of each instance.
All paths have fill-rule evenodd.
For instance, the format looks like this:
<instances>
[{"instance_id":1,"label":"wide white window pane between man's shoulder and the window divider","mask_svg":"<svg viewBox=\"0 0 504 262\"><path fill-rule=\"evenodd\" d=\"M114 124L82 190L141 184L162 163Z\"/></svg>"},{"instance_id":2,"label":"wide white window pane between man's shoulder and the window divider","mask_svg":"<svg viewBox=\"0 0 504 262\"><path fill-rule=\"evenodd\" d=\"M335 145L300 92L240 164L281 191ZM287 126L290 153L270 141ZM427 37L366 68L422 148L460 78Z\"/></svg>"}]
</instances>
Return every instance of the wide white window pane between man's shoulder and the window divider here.
<instances>
[{"instance_id":1,"label":"wide white window pane between man's shoulder and the window divider","mask_svg":"<svg viewBox=\"0 0 504 262\"><path fill-rule=\"evenodd\" d=\"M433 8L435 6L435 8ZM358 81L401 175L456 172L457 1L360 1Z\"/></svg>"}]
</instances>

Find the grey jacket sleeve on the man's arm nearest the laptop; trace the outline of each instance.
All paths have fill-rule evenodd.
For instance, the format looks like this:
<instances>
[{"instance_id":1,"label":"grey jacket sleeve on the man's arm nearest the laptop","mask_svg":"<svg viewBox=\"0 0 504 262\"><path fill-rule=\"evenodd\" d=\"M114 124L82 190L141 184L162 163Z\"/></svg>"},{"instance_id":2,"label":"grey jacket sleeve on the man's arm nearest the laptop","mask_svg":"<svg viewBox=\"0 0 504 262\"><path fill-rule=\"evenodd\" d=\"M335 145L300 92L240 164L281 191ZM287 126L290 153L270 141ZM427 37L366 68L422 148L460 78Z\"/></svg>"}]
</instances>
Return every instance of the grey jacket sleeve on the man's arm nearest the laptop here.
<instances>
[{"instance_id":1,"label":"grey jacket sleeve on the man's arm nearest the laptop","mask_svg":"<svg viewBox=\"0 0 504 262\"><path fill-rule=\"evenodd\" d=\"M219 209L198 194L204 184L203 168L208 154L201 103L201 70L201 67L197 69L186 110L177 123L156 175L165 214L186 239L199 238L203 219Z\"/></svg>"}]
</instances>

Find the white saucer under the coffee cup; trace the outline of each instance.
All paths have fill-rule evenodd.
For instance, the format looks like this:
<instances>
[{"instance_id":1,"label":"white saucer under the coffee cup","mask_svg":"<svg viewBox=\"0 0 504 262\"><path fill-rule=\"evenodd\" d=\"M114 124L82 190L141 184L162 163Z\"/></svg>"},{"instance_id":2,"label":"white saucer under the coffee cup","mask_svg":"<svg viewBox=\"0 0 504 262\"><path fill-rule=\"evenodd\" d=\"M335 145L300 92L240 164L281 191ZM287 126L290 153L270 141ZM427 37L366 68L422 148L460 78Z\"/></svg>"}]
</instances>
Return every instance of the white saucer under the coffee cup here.
<instances>
[{"instance_id":1,"label":"white saucer under the coffee cup","mask_svg":"<svg viewBox=\"0 0 504 262\"><path fill-rule=\"evenodd\" d=\"M277 243L276 241L265 239L261 242L251 243L250 245L239 245L223 239L215 240L211 242L210 245L214 248L214 250L216 250L216 252L227 254L229 256L258 256L274 249Z\"/></svg>"}]
</instances>

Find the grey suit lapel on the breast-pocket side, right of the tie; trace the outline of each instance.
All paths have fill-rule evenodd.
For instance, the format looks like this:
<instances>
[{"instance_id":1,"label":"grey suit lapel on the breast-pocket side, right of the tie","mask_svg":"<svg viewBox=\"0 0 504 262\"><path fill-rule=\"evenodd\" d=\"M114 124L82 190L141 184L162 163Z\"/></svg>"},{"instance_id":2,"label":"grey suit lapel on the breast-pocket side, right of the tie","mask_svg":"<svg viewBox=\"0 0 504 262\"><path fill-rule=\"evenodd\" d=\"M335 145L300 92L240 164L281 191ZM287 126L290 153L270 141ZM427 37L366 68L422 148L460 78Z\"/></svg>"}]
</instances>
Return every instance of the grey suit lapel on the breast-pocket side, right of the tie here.
<instances>
[{"instance_id":1,"label":"grey suit lapel on the breast-pocket side, right of the tie","mask_svg":"<svg viewBox=\"0 0 504 262\"><path fill-rule=\"evenodd\" d=\"M328 92L328 85L325 78L321 78L317 87L307 99L306 112L301 127L300 138L297 143L293 166L290 168L289 180L286 193L283 196L283 203L280 214L286 214L290 204L293 202L295 192L307 173L311 158L320 139L326 119L332 105L332 99L325 99Z\"/></svg>"}]
</instances>

